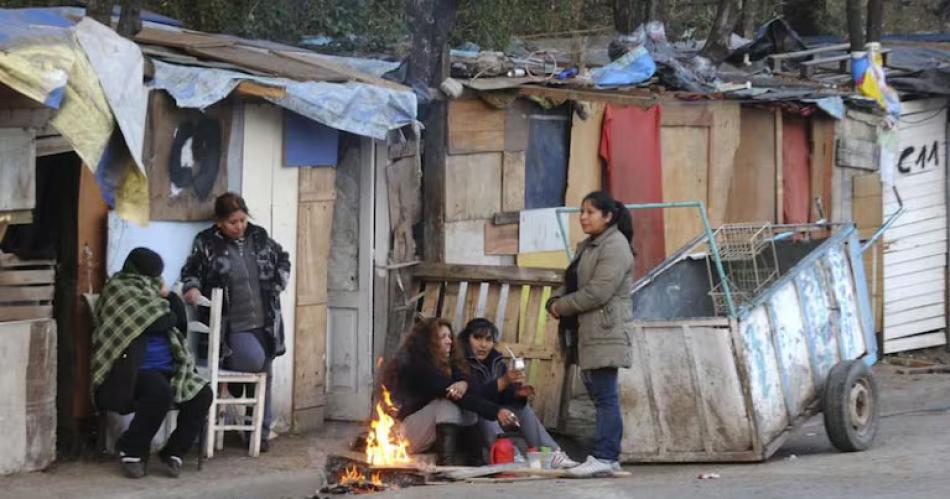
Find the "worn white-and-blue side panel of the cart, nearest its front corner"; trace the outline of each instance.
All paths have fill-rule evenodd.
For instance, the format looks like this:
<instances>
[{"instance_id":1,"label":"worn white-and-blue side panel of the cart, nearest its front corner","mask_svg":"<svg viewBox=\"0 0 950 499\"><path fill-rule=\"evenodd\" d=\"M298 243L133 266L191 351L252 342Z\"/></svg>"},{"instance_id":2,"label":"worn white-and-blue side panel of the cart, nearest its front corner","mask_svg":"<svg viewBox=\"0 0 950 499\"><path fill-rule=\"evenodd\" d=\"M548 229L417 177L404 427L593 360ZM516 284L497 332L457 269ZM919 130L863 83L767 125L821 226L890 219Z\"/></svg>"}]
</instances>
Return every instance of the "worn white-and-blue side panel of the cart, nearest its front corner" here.
<instances>
[{"instance_id":1,"label":"worn white-and-blue side panel of the cart, nearest its front corner","mask_svg":"<svg viewBox=\"0 0 950 499\"><path fill-rule=\"evenodd\" d=\"M788 426L781 374L772 345L771 324L764 306L739 323L742 358L749 376L749 392L761 442L768 443Z\"/></svg>"}]
</instances>

